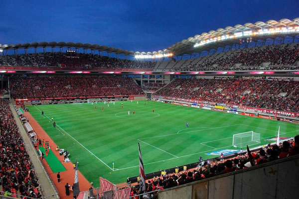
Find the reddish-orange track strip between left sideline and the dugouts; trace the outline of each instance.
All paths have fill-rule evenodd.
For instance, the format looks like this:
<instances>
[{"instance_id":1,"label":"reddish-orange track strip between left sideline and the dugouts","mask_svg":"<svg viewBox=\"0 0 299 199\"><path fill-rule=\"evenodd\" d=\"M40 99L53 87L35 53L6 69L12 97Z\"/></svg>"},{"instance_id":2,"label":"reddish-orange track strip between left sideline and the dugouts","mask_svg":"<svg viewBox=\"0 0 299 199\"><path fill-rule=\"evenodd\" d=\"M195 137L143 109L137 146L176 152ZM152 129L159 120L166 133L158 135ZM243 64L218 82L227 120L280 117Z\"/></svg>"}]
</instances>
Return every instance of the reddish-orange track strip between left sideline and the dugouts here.
<instances>
[{"instance_id":1,"label":"reddish-orange track strip between left sideline and the dugouts","mask_svg":"<svg viewBox=\"0 0 299 199\"><path fill-rule=\"evenodd\" d=\"M42 129L42 127L37 123L37 121L31 116L29 112L24 112L24 115L27 119L29 119L29 123L34 129L34 131L37 134L37 138L45 141L49 141L49 145L51 147L51 150L56 155L56 157L60 160L62 165L65 167L66 171L60 172L60 183L57 181L57 173L53 173L51 168L48 166L46 160L41 160L43 163L43 166L45 170L47 171L48 175L52 179L56 189L59 192L60 199L73 199L73 192L70 191L70 196L65 195L65 185L68 183L70 186L74 184L75 179L75 170L73 169L73 163L68 162L64 163L63 156L59 155L58 151L55 151L56 144L53 142L53 140L50 138L50 136L47 135L47 133ZM79 188L80 191L87 191L90 188L90 182L86 180L86 178L81 174L80 171L78 171L79 175ZM71 188L71 187L70 187Z\"/></svg>"}]
</instances>

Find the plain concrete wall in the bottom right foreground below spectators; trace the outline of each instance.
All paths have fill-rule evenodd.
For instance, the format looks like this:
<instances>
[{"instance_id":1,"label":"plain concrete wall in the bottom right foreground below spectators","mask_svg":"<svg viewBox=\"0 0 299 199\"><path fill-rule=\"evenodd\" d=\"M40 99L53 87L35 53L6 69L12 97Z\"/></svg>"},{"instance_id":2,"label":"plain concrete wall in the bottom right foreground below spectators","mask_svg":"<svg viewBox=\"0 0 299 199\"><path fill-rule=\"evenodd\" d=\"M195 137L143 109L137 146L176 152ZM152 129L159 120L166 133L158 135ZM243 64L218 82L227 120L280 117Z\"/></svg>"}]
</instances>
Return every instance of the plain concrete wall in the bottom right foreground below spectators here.
<instances>
[{"instance_id":1,"label":"plain concrete wall in the bottom right foreground below spectators","mask_svg":"<svg viewBox=\"0 0 299 199\"><path fill-rule=\"evenodd\" d=\"M299 155L158 192L158 199L297 199Z\"/></svg>"}]
</instances>

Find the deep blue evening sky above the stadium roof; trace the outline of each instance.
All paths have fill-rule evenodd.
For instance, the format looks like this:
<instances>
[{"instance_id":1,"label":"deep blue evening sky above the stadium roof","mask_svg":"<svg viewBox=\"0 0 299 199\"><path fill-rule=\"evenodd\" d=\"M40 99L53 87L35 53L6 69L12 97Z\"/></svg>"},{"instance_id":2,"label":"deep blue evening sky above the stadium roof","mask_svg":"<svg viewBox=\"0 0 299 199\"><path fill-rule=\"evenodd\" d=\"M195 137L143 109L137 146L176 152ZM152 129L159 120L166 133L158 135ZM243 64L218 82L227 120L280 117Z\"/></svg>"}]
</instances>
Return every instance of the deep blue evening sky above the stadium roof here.
<instances>
[{"instance_id":1,"label":"deep blue evening sky above the stadium roof","mask_svg":"<svg viewBox=\"0 0 299 199\"><path fill-rule=\"evenodd\" d=\"M156 51L219 27L299 17L299 0L0 0L0 43Z\"/></svg>"}]
</instances>

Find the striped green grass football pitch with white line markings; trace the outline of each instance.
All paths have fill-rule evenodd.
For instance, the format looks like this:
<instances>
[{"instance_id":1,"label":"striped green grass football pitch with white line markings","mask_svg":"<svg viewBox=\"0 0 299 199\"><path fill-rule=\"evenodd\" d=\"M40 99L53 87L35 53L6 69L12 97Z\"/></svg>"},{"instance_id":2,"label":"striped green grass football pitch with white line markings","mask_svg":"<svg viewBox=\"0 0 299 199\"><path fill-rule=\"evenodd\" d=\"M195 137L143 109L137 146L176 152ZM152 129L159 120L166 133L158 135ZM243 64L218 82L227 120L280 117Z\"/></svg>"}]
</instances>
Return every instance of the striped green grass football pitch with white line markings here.
<instances>
[{"instance_id":1,"label":"striped green grass football pitch with white line markings","mask_svg":"<svg viewBox=\"0 0 299 199\"><path fill-rule=\"evenodd\" d=\"M233 134L260 133L261 144L275 137L279 126L281 136L299 134L299 125L288 122L155 101L147 101L146 105L144 101L124 101L122 109L121 103L110 103L110 107L98 103L97 109L91 103L37 105L29 109L53 141L70 152L70 159L78 159L79 170L95 187L99 186L100 176L118 184L139 175L138 142L145 172L151 173L196 162L199 156L215 157L205 155L207 152L236 149L232 146ZM52 116L56 128L49 122ZM251 147L261 144L250 143Z\"/></svg>"}]
</instances>

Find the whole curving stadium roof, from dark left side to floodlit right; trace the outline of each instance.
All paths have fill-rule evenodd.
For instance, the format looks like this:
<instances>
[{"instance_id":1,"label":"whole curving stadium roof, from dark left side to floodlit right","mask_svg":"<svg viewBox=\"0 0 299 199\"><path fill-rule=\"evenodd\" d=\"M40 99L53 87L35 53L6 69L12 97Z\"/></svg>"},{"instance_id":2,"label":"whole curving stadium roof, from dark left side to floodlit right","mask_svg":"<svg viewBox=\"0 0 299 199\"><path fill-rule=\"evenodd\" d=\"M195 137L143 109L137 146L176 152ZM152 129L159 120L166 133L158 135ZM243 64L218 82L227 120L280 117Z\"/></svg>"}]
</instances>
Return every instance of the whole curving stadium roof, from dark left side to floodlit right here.
<instances>
[{"instance_id":1,"label":"whole curving stadium roof, from dark left side to floodlit right","mask_svg":"<svg viewBox=\"0 0 299 199\"><path fill-rule=\"evenodd\" d=\"M281 19L279 21L269 20L267 22L257 21L255 23L245 23L244 25L237 24L235 26L227 26L210 30L201 34L196 34L194 37L183 39L167 49L153 52L134 52L123 50L120 48L100 46L98 44L89 43L74 43L74 42L33 42L23 44L0 44L0 50L9 49L28 49L28 48L75 48L85 50L105 51L108 53L132 55L136 58L161 58L173 55L184 55L199 53L212 48L223 47L226 45L239 44L240 38L252 37L252 40L276 38L278 35L296 35L299 34L299 17L293 20Z\"/></svg>"}]
</instances>

